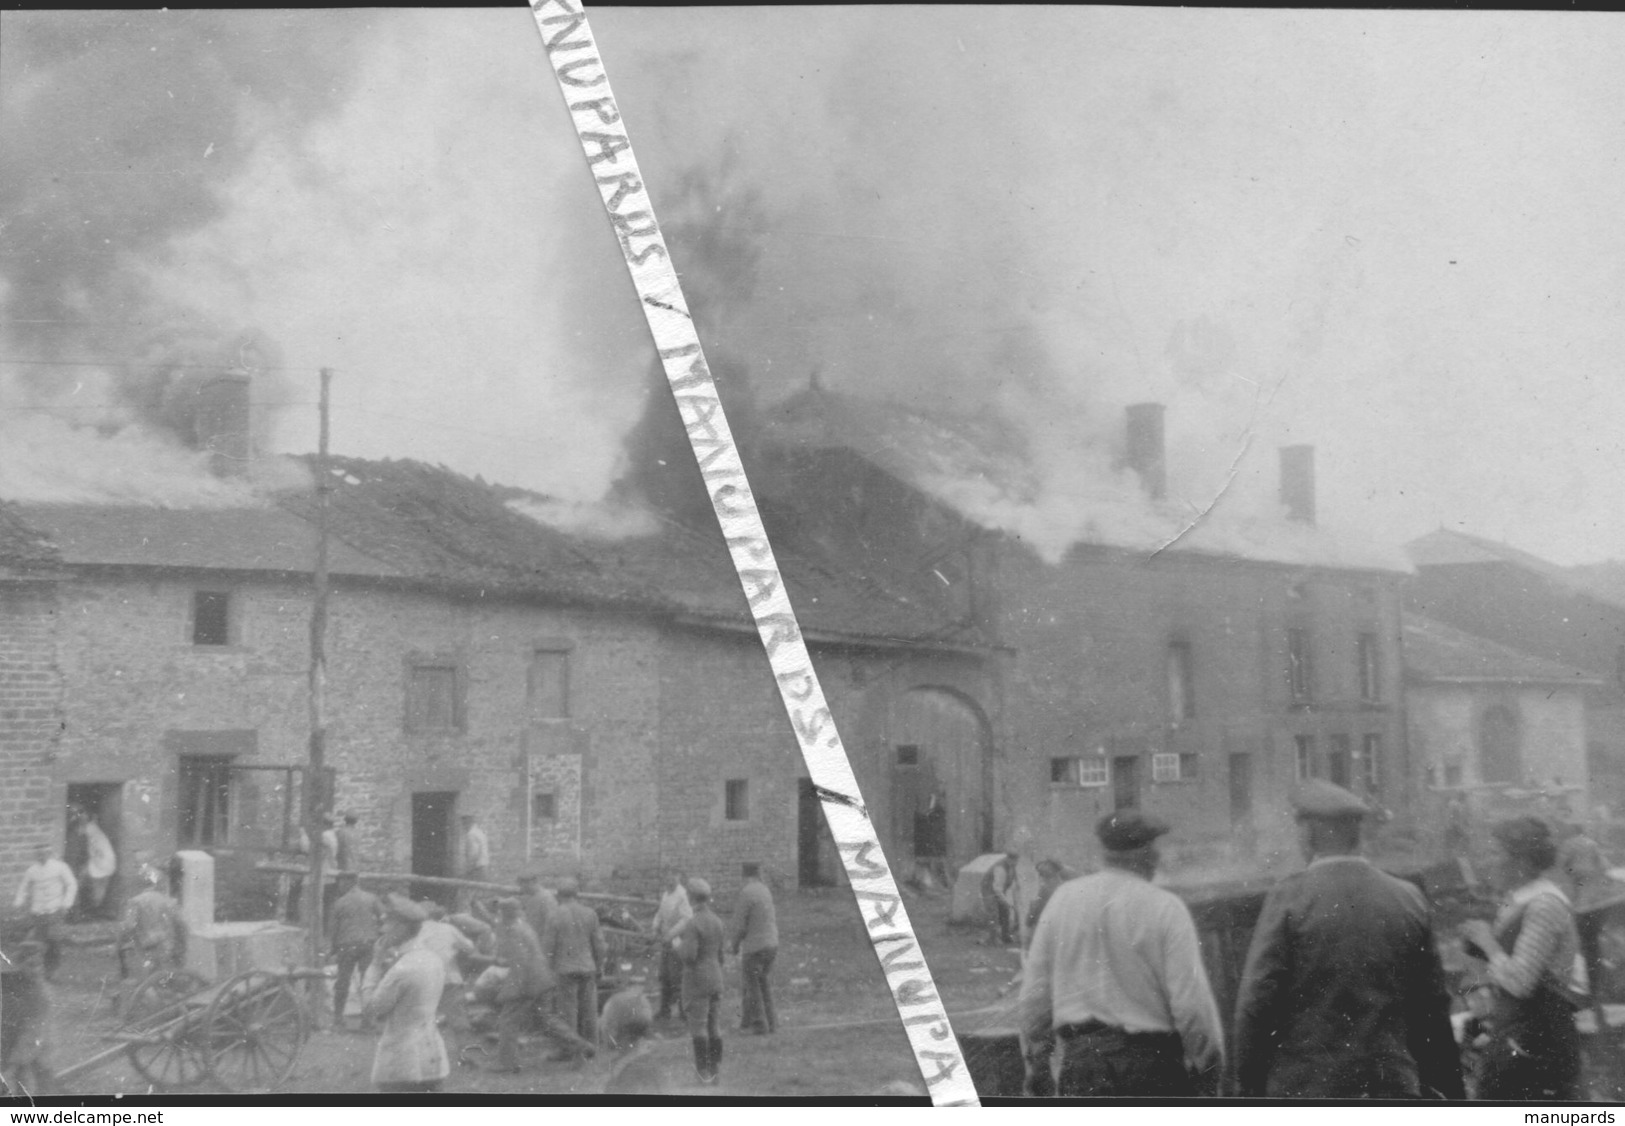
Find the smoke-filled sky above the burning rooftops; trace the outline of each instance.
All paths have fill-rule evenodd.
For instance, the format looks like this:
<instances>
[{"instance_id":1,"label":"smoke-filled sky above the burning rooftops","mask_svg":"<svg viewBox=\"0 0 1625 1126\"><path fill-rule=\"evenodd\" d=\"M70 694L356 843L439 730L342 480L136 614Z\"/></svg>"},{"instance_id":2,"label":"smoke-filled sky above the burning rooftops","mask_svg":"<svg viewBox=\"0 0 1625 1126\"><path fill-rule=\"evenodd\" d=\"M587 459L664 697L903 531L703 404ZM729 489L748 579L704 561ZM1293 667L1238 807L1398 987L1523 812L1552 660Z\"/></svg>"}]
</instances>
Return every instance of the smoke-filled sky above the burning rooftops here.
<instances>
[{"instance_id":1,"label":"smoke-filled sky above the burning rooftops","mask_svg":"<svg viewBox=\"0 0 1625 1126\"><path fill-rule=\"evenodd\" d=\"M1045 512L1162 401L1191 512L1313 444L1326 525L1625 559L1625 21L588 15L759 401L998 413ZM219 362L271 448L330 366L340 453L566 502L622 471L653 353L528 10L0 21L0 487L70 422L127 466Z\"/></svg>"}]
</instances>

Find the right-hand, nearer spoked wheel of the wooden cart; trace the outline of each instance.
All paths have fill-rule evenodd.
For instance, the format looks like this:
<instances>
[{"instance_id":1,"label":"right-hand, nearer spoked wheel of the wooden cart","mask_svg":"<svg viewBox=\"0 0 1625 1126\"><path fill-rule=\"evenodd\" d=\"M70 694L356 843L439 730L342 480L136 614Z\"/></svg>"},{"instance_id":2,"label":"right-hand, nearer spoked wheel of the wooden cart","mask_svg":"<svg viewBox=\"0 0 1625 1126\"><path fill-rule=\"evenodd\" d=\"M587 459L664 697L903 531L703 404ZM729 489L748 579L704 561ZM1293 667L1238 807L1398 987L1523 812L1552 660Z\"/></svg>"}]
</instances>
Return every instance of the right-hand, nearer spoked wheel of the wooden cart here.
<instances>
[{"instance_id":1,"label":"right-hand, nearer spoked wheel of the wooden cart","mask_svg":"<svg viewBox=\"0 0 1625 1126\"><path fill-rule=\"evenodd\" d=\"M203 1014L210 1074L232 1092L273 1090L286 1082L307 1035L292 981L265 970L234 977Z\"/></svg>"}]
</instances>

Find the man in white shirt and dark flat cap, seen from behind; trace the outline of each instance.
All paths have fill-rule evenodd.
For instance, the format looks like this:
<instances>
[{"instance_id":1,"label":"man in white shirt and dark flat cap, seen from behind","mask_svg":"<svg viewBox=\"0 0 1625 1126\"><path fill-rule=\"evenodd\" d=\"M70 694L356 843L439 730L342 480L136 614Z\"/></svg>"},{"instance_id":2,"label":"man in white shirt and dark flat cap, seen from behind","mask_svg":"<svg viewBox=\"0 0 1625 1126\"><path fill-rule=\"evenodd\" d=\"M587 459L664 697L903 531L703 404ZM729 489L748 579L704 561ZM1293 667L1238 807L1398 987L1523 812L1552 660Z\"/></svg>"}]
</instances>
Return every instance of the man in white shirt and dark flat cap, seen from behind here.
<instances>
[{"instance_id":1,"label":"man in white shirt and dark flat cap, seen from behind","mask_svg":"<svg viewBox=\"0 0 1625 1126\"><path fill-rule=\"evenodd\" d=\"M1095 827L1105 868L1061 884L1038 916L1020 990L1027 1094L1217 1090L1224 1033L1196 925L1150 882L1165 832L1133 809L1107 814Z\"/></svg>"}]
</instances>

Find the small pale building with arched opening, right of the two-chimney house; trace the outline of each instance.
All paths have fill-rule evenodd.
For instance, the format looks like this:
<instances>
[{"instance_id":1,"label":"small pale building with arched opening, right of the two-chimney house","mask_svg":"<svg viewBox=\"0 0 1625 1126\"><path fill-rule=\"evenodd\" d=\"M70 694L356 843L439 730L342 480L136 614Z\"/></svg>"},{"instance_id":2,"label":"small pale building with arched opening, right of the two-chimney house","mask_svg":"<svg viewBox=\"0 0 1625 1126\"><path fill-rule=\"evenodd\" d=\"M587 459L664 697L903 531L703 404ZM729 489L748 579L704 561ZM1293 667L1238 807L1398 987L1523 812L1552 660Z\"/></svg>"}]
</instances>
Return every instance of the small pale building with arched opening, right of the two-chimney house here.
<instances>
[{"instance_id":1,"label":"small pale building with arched opening, right of the two-chimney house","mask_svg":"<svg viewBox=\"0 0 1625 1126\"><path fill-rule=\"evenodd\" d=\"M1602 681L1415 613L1404 622L1406 721L1433 812L1461 795L1479 821L1542 803L1586 816L1586 695ZM1443 832L1443 816L1425 822Z\"/></svg>"}]
</instances>

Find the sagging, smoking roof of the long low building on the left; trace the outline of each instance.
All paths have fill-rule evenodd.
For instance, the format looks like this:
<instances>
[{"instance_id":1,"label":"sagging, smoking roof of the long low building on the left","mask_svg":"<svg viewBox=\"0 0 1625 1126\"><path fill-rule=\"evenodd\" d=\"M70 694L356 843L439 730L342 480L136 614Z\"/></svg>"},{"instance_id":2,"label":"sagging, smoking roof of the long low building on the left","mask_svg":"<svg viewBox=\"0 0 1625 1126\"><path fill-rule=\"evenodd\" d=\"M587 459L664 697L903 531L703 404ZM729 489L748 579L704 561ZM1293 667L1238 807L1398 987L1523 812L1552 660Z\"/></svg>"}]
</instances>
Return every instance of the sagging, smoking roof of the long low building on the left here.
<instances>
[{"instance_id":1,"label":"sagging, smoking roof of the long low building on the left","mask_svg":"<svg viewBox=\"0 0 1625 1126\"><path fill-rule=\"evenodd\" d=\"M523 489L410 460L332 458L335 575L457 596L544 600L751 627L715 525L609 507L587 520ZM70 567L309 574L315 497L268 494L262 507L13 504L0 507L0 561ZM559 513L562 518L557 518ZM549 523L556 517L556 523ZM562 526L559 526L562 525ZM585 526L583 526L585 525ZM855 570L795 530L774 549L803 629L817 640L977 647L978 639L900 578Z\"/></svg>"}]
</instances>

